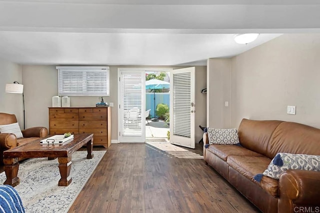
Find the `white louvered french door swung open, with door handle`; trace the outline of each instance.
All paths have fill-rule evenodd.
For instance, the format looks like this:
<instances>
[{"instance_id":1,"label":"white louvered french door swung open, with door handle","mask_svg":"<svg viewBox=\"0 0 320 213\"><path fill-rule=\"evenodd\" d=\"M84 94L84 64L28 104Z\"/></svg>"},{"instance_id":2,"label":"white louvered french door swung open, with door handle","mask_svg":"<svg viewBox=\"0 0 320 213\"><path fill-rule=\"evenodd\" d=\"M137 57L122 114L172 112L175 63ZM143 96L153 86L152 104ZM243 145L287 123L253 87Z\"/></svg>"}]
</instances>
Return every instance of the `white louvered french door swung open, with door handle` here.
<instances>
[{"instance_id":1,"label":"white louvered french door swung open, with door handle","mask_svg":"<svg viewBox=\"0 0 320 213\"><path fill-rule=\"evenodd\" d=\"M194 148L195 67L170 72L170 143Z\"/></svg>"}]
</instances>

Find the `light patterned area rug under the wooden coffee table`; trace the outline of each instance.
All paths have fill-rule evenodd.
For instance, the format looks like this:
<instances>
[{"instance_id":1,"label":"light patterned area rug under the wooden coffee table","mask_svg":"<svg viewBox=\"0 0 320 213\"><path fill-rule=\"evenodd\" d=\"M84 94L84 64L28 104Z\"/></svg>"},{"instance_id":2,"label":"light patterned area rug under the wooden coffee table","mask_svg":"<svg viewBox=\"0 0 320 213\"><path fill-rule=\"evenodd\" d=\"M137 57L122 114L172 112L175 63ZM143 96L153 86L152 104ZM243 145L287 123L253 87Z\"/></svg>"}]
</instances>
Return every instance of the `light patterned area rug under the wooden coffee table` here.
<instances>
[{"instance_id":1,"label":"light patterned area rug under the wooden coffee table","mask_svg":"<svg viewBox=\"0 0 320 213\"><path fill-rule=\"evenodd\" d=\"M20 163L20 184L14 189L21 197L25 212L67 212L105 153L93 151L93 158L86 159L86 151L74 152L70 171L72 182L67 187L58 187L60 173L57 159L48 161L47 158L33 158ZM2 172L0 183L5 179L5 173Z\"/></svg>"}]
</instances>

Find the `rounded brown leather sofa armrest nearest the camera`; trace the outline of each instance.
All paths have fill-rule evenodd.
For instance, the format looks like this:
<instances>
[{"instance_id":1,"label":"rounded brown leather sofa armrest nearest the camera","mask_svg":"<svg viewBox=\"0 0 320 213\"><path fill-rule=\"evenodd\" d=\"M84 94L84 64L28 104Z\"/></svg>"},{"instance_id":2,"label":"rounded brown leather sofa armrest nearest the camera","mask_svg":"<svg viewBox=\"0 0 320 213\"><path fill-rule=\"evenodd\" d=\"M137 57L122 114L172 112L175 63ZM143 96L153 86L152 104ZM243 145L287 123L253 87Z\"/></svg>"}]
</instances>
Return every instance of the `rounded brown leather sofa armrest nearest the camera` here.
<instances>
[{"instance_id":1,"label":"rounded brown leather sofa armrest nearest the camera","mask_svg":"<svg viewBox=\"0 0 320 213\"><path fill-rule=\"evenodd\" d=\"M279 178L278 212L294 212L299 206L320 206L320 172L287 170Z\"/></svg>"}]
</instances>

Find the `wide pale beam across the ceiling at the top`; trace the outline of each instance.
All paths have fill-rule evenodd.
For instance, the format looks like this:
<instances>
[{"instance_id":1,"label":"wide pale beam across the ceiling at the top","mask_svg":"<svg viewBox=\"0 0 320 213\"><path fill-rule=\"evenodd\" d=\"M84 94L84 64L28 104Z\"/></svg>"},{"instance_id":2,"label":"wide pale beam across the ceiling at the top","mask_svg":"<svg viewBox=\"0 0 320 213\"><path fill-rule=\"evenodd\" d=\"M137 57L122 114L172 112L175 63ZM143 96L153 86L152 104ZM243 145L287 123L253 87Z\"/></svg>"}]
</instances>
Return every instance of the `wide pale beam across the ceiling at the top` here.
<instances>
[{"instance_id":1,"label":"wide pale beam across the ceiling at the top","mask_svg":"<svg viewBox=\"0 0 320 213\"><path fill-rule=\"evenodd\" d=\"M69 2L72 3L0 1L0 31L111 33L320 31L318 21L320 4L150 5L74 3L77 2L75 0Z\"/></svg>"}]
</instances>

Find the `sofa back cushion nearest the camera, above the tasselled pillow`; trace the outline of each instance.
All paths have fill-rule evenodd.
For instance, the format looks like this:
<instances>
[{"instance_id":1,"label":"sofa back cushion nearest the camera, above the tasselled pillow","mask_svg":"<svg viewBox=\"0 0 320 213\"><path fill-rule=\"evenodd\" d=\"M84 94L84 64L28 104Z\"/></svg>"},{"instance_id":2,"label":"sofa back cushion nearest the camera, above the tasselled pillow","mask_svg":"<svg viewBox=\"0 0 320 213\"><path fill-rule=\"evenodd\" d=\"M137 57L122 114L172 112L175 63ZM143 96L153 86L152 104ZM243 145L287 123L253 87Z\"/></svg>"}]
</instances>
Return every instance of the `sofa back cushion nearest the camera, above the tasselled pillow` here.
<instances>
[{"instance_id":1,"label":"sofa back cushion nearest the camera, above the tasselled pillow","mask_svg":"<svg viewBox=\"0 0 320 213\"><path fill-rule=\"evenodd\" d=\"M320 129L293 122L282 122L267 145L266 157L277 153L320 155Z\"/></svg>"}]
</instances>

